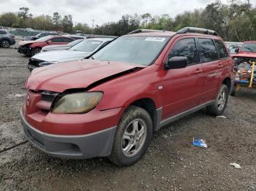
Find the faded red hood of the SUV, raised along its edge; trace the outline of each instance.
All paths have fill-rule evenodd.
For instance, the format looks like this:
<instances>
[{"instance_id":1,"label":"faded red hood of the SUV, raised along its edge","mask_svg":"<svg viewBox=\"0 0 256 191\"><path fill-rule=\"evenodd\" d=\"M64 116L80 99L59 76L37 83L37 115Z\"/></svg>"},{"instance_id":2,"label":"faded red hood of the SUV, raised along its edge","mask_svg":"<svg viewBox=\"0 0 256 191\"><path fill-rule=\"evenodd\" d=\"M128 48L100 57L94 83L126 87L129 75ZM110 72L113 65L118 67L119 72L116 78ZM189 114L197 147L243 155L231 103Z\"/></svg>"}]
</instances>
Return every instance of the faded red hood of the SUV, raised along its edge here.
<instances>
[{"instance_id":1,"label":"faded red hood of the SUV, raised along its edge","mask_svg":"<svg viewBox=\"0 0 256 191\"><path fill-rule=\"evenodd\" d=\"M88 87L101 79L144 67L146 66L93 60L55 63L34 69L26 83L26 88L63 92L67 89Z\"/></svg>"}]
</instances>

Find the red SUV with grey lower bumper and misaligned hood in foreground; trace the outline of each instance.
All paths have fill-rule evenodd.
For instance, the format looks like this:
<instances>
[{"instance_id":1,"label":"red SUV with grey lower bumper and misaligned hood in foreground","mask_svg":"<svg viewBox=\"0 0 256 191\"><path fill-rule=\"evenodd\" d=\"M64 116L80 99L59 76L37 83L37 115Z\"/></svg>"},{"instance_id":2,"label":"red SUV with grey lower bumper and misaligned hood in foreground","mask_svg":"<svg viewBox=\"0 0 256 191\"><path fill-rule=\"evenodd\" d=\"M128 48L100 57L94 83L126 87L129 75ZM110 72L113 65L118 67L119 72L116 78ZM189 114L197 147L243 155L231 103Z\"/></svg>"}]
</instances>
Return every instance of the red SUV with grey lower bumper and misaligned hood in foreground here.
<instances>
[{"instance_id":1,"label":"red SUV with grey lower bumper and misaligned hood in foreground","mask_svg":"<svg viewBox=\"0 0 256 191\"><path fill-rule=\"evenodd\" d=\"M50 155L132 165L169 122L205 107L222 114L232 82L233 60L214 31L136 30L89 60L32 71L20 118Z\"/></svg>"}]
</instances>

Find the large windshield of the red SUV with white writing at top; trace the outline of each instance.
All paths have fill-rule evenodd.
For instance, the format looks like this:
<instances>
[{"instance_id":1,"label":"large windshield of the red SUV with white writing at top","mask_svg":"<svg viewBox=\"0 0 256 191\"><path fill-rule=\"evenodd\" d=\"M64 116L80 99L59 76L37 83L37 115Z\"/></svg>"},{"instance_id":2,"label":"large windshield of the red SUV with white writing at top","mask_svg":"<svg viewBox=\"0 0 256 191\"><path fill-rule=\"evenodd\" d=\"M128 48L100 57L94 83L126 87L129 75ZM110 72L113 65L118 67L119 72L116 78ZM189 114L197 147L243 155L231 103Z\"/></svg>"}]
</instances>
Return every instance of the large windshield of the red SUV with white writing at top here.
<instances>
[{"instance_id":1,"label":"large windshield of the red SUV with white writing at top","mask_svg":"<svg viewBox=\"0 0 256 191\"><path fill-rule=\"evenodd\" d=\"M123 36L99 50L93 58L148 66L169 39L166 36Z\"/></svg>"}]
</instances>

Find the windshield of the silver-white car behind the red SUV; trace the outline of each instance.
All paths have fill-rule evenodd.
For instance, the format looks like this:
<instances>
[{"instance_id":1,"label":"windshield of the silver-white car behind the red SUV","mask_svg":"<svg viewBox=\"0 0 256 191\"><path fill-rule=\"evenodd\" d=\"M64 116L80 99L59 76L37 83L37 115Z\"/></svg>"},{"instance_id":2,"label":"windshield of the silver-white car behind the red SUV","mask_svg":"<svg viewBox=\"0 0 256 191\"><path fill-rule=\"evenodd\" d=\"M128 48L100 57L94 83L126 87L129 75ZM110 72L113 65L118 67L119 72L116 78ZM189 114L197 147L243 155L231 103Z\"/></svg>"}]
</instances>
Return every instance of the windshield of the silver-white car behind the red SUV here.
<instances>
[{"instance_id":1,"label":"windshield of the silver-white car behind the red SUV","mask_svg":"<svg viewBox=\"0 0 256 191\"><path fill-rule=\"evenodd\" d=\"M83 40L83 42L80 42L80 43L76 44L74 47L69 48L69 50L76 50L76 51L82 51L82 52L92 52L101 43L102 43L102 41L99 41L99 40Z\"/></svg>"}]
</instances>

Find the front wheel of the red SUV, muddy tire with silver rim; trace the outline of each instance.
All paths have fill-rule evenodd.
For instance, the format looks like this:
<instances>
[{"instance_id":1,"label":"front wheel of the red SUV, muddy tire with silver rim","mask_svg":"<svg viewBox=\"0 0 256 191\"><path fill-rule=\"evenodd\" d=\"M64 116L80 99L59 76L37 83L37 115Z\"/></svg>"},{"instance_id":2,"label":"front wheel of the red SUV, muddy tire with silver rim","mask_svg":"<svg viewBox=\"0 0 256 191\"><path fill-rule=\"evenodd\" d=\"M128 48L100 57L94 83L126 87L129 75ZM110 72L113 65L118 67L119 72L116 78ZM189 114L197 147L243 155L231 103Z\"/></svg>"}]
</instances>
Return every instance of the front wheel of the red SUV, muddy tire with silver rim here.
<instances>
[{"instance_id":1,"label":"front wheel of the red SUV, muddy tire with silver rim","mask_svg":"<svg viewBox=\"0 0 256 191\"><path fill-rule=\"evenodd\" d=\"M137 163L148 149L152 133L153 124L148 112L138 106L129 106L118 122L108 159L119 166Z\"/></svg>"}]
</instances>

